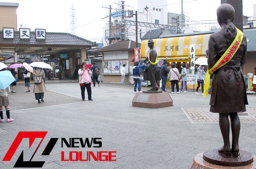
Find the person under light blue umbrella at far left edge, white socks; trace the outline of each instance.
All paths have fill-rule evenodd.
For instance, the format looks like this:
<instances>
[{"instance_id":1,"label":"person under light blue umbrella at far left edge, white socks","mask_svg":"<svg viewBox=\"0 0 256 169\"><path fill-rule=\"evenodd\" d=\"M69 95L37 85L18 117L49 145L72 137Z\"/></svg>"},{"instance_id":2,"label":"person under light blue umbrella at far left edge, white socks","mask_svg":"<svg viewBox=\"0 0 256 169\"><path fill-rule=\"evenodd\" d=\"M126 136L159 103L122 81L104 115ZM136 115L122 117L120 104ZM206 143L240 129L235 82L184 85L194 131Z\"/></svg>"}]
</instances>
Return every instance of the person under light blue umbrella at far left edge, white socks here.
<instances>
[{"instance_id":1,"label":"person under light blue umbrella at far left edge, white socks","mask_svg":"<svg viewBox=\"0 0 256 169\"><path fill-rule=\"evenodd\" d=\"M5 70L5 69L3 69ZM3 72L3 70L0 70ZM8 93L10 91L10 87L9 87L9 84L11 82L13 82L15 79L12 77L12 74L10 73L10 71L5 71L7 74L9 73L9 78L6 77L5 75L3 75L2 73L0 74L0 79L1 79L1 84L0 84L0 122L1 123L4 123L4 118L3 118L3 110L2 110L2 107L4 106L5 107L5 111L6 111L6 116L7 116L7 122L12 122L14 121L14 119L12 119L10 117L10 108L9 108L9 99L8 99ZM13 78L13 79L12 79ZM9 79L12 79L10 81L10 83L8 84L7 82L7 85L4 85L2 83L2 80L6 81L6 80L9 80ZM5 83L6 84L6 83Z\"/></svg>"}]
</instances>

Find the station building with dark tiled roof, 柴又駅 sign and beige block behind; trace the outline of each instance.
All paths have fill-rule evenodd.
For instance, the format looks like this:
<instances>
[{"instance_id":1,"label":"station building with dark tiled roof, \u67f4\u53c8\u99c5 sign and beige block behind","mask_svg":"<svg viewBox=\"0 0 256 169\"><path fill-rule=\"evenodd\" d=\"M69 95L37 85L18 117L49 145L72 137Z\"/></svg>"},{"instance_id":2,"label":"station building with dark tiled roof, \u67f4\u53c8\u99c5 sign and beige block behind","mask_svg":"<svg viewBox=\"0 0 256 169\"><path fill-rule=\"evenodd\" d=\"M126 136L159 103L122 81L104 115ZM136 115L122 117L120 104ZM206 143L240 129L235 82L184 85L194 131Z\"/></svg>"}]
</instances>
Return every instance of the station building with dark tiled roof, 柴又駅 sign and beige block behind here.
<instances>
[{"instance_id":1,"label":"station building with dark tiled roof, \u67f4\u53c8\u99c5 sign and beige block behind","mask_svg":"<svg viewBox=\"0 0 256 169\"><path fill-rule=\"evenodd\" d=\"M55 77L61 71L61 78L77 78L81 63L89 61L87 50L97 44L70 33L47 32L44 28L17 29L17 8L18 3L0 2L0 51L14 55L6 64L44 61L52 66ZM0 62L3 61L0 57ZM18 75L21 78L22 72Z\"/></svg>"}]
</instances>

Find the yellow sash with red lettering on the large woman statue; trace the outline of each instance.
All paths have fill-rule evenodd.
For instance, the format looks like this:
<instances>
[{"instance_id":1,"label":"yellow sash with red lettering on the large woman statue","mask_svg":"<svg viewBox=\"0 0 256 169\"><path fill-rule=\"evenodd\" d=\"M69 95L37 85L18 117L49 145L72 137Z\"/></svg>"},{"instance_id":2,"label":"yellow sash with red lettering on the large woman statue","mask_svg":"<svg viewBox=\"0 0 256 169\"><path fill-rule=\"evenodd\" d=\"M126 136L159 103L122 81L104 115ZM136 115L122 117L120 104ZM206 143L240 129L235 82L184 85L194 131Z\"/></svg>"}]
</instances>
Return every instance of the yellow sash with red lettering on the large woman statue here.
<instances>
[{"instance_id":1,"label":"yellow sash with red lettering on the large woman statue","mask_svg":"<svg viewBox=\"0 0 256 169\"><path fill-rule=\"evenodd\" d=\"M213 74L214 71L220 69L224 65L226 65L229 60L232 59L232 57L236 54L238 48L240 47L242 43L243 34L242 31L237 29L237 35L234 39L234 41L230 44L226 52L221 56L221 58L215 63L215 65L209 70L207 70L206 73L206 79L204 84L204 91L203 91L203 97L205 97L208 93L208 90L210 88L210 76Z\"/></svg>"}]
</instances>

